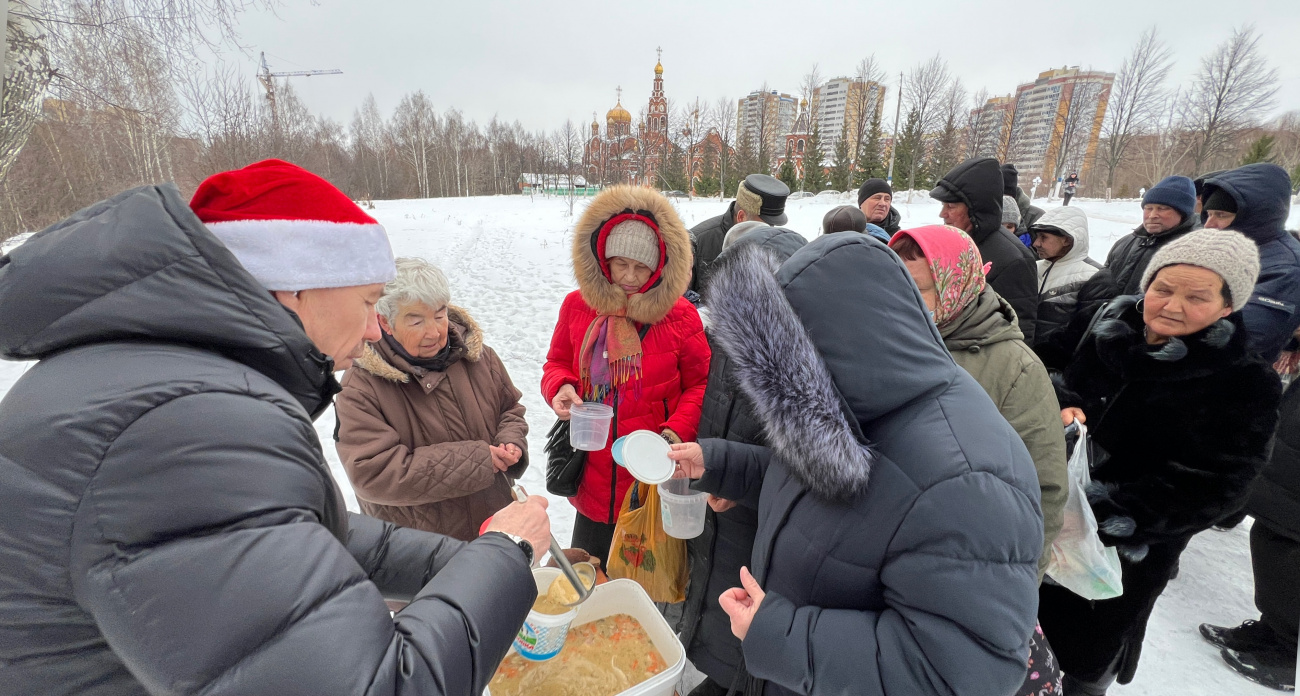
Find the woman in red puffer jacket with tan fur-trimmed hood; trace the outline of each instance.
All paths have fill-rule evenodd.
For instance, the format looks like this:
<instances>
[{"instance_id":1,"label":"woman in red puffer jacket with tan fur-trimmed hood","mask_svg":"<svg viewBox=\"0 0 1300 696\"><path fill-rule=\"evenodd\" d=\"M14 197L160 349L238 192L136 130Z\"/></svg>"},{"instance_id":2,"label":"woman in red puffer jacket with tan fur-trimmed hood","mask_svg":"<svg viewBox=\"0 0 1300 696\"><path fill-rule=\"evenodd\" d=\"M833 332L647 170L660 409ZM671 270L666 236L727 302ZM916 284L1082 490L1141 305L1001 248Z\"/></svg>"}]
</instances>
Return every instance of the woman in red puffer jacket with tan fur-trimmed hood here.
<instances>
[{"instance_id":1,"label":"woman in red puffer jacket with tan fur-trimmed hood","mask_svg":"<svg viewBox=\"0 0 1300 696\"><path fill-rule=\"evenodd\" d=\"M656 191L615 186L592 200L573 230L578 289L560 306L542 372L555 415L598 401L614 407L604 449L588 454L571 546L606 559L632 475L610 445L632 431L692 441L708 380L708 341L681 295L690 282L690 233ZM598 356L598 358L597 358Z\"/></svg>"}]
</instances>

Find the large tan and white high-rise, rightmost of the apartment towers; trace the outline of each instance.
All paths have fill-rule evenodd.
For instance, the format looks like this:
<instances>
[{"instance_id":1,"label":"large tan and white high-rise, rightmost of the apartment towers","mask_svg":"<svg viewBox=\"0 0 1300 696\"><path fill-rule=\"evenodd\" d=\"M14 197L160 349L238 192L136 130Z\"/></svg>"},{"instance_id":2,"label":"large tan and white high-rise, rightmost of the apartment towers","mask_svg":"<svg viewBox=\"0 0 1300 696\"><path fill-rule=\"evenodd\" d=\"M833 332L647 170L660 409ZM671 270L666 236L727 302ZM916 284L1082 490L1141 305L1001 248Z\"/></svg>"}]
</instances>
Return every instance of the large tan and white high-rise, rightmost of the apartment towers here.
<instances>
[{"instance_id":1,"label":"large tan and white high-rise, rightmost of the apartment towers","mask_svg":"<svg viewBox=\"0 0 1300 696\"><path fill-rule=\"evenodd\" d=\"M1020 180L1078 172L1088 178L1114 73L1061 68L1015 88L1015 108L1005 160Z\"/></svg>"}]
</instances>

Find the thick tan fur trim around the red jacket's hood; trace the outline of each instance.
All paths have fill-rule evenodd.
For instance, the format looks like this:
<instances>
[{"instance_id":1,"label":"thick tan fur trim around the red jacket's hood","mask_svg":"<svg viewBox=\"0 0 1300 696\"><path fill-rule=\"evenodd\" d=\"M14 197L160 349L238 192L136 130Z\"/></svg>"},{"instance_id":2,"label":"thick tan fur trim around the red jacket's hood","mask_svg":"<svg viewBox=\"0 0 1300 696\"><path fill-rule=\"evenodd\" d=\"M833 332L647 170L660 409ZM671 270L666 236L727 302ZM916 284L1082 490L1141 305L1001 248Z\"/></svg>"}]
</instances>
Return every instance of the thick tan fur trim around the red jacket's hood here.
<instances>
[{"instance_id":1,"label":"thick tan fur trim around the red jacket's hood","mask_svg":"<svg viewBox=\"0 0 1300 696\"><path fill-rule=\"evenodd\" d=\"M604 260L597 248L608 234L608 222L623 213L646 215L659 228L663 254L658 280L651 277L651 288L645 293L625 295L610 282ZM627 307L628 317L641 324L654 324L668 315L668 310L690 284L692 251L690 232L681 222L677 211L658 191L641 186L612 186L592 199L573 229L573 277L582 299L599 314L615 314Z\"/></svg>"}]
</instances>

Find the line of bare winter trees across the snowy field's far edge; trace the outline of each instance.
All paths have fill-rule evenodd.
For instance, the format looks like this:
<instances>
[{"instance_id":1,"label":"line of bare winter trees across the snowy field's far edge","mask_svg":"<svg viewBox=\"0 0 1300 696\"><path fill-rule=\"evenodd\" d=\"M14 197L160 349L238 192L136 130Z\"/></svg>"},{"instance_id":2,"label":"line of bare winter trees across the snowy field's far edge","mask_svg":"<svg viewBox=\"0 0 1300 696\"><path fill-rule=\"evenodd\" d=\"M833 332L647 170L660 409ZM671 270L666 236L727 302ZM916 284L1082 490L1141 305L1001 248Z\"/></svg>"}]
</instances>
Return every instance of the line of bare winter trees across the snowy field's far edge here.
<instances>
[{"instance_id":1,"label":"line of bare winter trees across the snowy field's far edge","mask_svg":"<svg viewBox=\"0 0 1300 696\"><path fill-rule=\"evenodd\" d=\"M0 239L40 229L131 186L174 181L191 191L211 173L265 157L295 161L354 199L500 195L523 173L584 176L612 183L619 172L584 163L586 129L572 120L529 130L517 121L478 124L429 95L404 95L389 112L367 96L347 124L311 113L287 82L268 101L256 83L204 60L203 49L233 46L234 17L273 9L274 0L10 0L10 69L0 112ZM213 29L214 27L214 29ZM1262 59L1252 27L1234 30L1204 59L1196 78L1167 85L1171 57L1154 29L1143 34L1117 73L1084 195L1135 195L1173 173L1199 174L1242 161L1277 161L1300 181L1300 113L1269 124L1278 74ZM854 79L888 83L875 56ZM816 65L801 96L816 113ZM805 165L796 170L775 133L775 114L758 127L737 122L736 101L670 101L666 137L634 135L637 170L656 161L654 185L696 195L729 195L750 173L779 176L792 190L848 190L883 177L890 160L896 189L928 189L962 159L1013 159L1009 143L982 142L978 111L987 92L968 94L940 55L900 75L901 116L867 91L850 94L835 147L811 120ZM766 85L762 91L767 91ZM1096 91L1076 90L1063 118L1058 167L1088 146ZM872 100L875 99L875 100ZM1075 103L1078 101L1078 103ZM274 104L272 107L272 104ZM272 108L274 112L272 112ZM897 131L897 139L893 138ZM993 151L991 151L991 147ZM780 164L779 164L780 163ZM1093 180L1098 178L1096 176ZM1105 186L1102 186L1102 183ZM1089 187L1091 185L1091 187Z\"/></svg>"}]
</instances>

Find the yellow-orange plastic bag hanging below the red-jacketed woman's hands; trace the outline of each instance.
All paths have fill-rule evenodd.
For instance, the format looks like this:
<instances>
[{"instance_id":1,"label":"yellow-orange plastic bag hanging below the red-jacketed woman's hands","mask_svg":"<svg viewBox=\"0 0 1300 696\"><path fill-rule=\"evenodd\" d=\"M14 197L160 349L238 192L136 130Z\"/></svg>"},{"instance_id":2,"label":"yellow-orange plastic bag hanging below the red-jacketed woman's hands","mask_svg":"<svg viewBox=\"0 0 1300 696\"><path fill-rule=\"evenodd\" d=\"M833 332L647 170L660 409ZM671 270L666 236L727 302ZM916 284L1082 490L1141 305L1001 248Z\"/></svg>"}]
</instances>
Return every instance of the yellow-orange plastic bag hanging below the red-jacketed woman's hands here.
<instances>
[{"instance_id":1,"label":"yellow-orange plastic bag hanging below the red-jacketed woman's hands","mask_svg":"<svg viewBox=\"0 0 1300 696\"><path fill-rule=\"evenodd\" d=\"M659 489L637 483L628 489L614 526L606 574L636 580L656 602L686 598L686 542L663 531Z\"/></svg>"}]
</instances>

